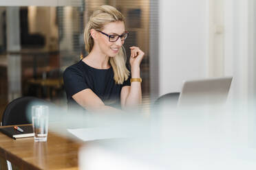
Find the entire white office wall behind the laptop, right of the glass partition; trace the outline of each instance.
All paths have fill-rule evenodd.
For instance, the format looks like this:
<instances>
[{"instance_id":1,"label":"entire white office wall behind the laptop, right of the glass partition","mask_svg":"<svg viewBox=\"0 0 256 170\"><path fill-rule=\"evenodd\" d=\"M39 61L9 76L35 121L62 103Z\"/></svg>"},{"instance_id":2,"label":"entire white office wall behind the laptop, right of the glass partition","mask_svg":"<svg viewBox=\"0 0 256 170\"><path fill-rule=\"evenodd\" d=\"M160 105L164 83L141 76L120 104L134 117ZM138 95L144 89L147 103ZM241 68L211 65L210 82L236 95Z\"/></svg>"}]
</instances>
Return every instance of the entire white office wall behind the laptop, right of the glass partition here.
<instances>
[{"instance_id":1,"label":"entire white office wall behind the laptop, right of the glass partition","mask_svg":"<svg viewBox=\"0 0 256 170\"><path fill-rule=\"evenodd\" d=\"M256 98L255 0L159 5L159 95L180 91L183 80L233 76L231 99Z\"/></svg>"}]
</instances>

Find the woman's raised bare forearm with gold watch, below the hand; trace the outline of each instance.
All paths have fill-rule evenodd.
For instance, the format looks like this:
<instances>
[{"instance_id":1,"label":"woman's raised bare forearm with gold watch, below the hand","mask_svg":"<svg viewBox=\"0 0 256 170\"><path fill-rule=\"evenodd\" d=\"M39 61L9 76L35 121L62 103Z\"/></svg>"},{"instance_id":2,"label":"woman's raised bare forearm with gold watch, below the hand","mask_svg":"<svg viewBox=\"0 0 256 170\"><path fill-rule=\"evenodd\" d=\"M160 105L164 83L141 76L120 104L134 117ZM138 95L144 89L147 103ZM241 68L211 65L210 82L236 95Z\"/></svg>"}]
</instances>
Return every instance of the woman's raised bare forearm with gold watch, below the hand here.
<instances>
[{"instance_id":1,"label":"woman's raised bare forearm with gold watch, below the hand","mask_svg":"<svg viewBox=\"0 0 256 170\"><path fill-rule=\"evenodd\" d=\"M139 78L140 77L140 67L131 67L131 78ZM127 95L127 99L125 101L125 106L138 106L142 101L142 93L141 93L141 83L140 82L131 82L131 88L129 90L129 94Z\"/></svg>"}]
</instances>

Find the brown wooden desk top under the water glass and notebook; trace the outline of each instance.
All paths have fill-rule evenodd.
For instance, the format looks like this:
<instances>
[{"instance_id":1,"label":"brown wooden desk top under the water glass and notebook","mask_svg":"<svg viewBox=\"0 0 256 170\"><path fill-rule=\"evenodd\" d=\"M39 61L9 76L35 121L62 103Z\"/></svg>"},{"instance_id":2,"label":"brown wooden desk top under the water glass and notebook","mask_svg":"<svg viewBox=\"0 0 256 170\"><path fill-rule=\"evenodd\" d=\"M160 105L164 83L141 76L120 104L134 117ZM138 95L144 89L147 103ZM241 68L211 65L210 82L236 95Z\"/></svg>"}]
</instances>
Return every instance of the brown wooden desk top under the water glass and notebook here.
<instances>
[{"instance_id":1,"label":"brown wooden desk top under the water glass and notebook","mask_svg":"<svg viewBox=\"0 0 256 170\"><path fill-rule=\"evenodd\" d=\"M78 149L82 143L48 133L47 142L34 138L14 140L0 132L0 156L21 170L78 169Z\"/></svg>"}]
</instances>

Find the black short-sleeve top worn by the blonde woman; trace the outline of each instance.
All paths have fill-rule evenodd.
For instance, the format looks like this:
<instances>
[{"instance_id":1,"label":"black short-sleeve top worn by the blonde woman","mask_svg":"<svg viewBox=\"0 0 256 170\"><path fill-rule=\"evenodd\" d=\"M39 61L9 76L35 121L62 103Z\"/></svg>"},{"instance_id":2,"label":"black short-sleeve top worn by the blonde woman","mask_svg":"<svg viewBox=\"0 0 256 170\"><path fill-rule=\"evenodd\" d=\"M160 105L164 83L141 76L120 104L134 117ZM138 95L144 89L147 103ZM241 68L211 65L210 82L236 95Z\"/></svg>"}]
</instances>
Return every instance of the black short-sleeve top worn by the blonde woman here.
<instances>
[{"instance_id":1,"label":"black short-sleeve top worn by the blonde woman","mask_svg":"<svg viewBox=\"0 0 256 170\"><path fill-rule=\"evenodd\" d=\"M130 77L129 77L130 78ZM72 98L73 95L90 88L107 106L120 108L120 93L123 86L130 86L129 78L123 84L116 84L114 71L95 69L80 60L67 67L63 73L64 87L67 94L67 106L80 107Z\"/></svg>"}]
</instances>

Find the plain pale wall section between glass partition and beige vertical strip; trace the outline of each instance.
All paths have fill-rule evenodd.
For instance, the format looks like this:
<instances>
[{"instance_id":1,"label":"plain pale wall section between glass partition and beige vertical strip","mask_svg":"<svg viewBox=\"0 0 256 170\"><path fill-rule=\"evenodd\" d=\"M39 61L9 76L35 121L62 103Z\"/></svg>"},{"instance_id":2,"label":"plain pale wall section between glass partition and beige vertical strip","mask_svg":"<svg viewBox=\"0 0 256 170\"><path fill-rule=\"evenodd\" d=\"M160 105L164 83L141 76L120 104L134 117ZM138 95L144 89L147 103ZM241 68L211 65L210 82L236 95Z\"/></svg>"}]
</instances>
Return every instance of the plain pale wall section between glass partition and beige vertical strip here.
<instances>
[{"instance_id":1,"label":"plain pale wall section between glass partition and beige vertical strip","mask_svg":"<svg viewBox=\"0 0 256 170\"><path fill-rule=\"evenodd\" d=\"M158 75L163 95L180 91L183 80L207 76L209 14L205 0L159 3Z\"/></svg>"}]
</instances>

